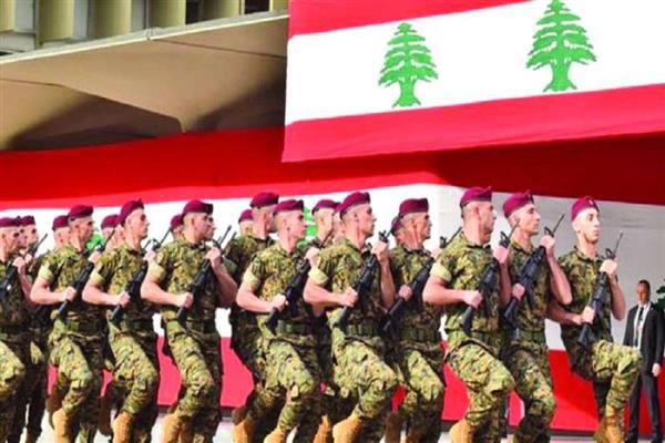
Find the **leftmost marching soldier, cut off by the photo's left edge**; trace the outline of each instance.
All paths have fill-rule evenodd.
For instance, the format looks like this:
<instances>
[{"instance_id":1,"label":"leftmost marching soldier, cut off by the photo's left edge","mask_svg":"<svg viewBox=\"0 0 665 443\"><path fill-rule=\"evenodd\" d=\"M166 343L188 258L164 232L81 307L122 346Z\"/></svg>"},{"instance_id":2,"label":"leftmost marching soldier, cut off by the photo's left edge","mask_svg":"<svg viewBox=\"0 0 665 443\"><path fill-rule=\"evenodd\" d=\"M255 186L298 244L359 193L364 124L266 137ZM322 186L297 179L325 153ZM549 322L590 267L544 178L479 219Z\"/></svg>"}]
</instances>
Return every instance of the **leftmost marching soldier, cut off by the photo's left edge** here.
<instances>
[{"instance_id":1,"label":"leftmost marching soldier, cut off by the photo's left edge","mask_svg":"<svg viewBox=\"0 0 665 443\"><path fill-rule=\"evenodd\" d=\"M18 218L0 218L0 442L10 434L30 361L31 281L25 260L18 254L19 228Z\"/></svg>"}]
</instances>

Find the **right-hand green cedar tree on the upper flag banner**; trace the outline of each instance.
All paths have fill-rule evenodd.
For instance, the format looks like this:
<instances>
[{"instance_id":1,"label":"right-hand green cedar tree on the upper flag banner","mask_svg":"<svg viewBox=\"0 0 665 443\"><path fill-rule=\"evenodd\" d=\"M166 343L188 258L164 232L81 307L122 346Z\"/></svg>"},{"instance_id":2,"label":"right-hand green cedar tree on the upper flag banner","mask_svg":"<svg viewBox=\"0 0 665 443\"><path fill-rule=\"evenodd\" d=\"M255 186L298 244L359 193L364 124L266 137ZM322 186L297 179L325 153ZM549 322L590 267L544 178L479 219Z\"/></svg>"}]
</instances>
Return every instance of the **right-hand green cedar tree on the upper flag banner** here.
<instances>
[{"instance_id":1,"label":"right-hand green cedar tree on the upper flag banner","mask_svg":"<svg viewBox=\"0 0 665 443\"><path fill-rule=\"evenodd\" d=\"M577 89L569 78L572 63L595 62L593 47L586 37L586 30L576 22L580 17L561 0L552 0L545 17L539 20L539 31L533 35L533 49L529 53L526 68L534 70L543 66L552 69L552 81L546 91L566 91Z\"/></svg>"}]
</instances>

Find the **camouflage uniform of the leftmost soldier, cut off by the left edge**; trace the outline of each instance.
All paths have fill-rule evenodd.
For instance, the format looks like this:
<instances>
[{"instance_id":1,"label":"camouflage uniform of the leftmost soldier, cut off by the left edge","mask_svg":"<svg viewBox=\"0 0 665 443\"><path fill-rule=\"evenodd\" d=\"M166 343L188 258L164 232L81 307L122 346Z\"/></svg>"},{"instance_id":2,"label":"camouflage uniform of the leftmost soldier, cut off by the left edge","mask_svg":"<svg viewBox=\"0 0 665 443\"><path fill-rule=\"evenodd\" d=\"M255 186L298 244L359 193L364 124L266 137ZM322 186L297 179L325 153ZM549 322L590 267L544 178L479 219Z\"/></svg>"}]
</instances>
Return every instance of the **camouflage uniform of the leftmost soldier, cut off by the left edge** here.
<instances>
[{"instance_id":1,"label":"camouflage uniform of the leftmost soldier, cut off by the left edge","mask_svg":"<svg viewBox=\"0 0 665 443\"><path fill-rule=\"evenodd\" d=\"M0 281L3 281L13 257L0 261ZM6 302L0 303L0 442L10 434L17 410L17 396L25 380L30 361L30 311L18 277L12 282Z\"/></svg>"}]
</instances>

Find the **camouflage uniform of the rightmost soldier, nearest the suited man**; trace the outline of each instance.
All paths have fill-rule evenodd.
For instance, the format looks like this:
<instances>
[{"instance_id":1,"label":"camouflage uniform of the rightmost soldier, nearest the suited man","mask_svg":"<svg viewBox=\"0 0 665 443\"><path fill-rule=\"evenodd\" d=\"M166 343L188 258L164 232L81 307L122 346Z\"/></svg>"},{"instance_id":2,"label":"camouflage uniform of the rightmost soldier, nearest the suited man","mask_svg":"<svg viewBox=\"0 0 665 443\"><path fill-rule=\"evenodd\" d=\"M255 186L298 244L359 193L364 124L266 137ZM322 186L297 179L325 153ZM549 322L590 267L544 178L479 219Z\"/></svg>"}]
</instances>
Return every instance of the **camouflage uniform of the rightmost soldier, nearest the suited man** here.
<instances>
[{"instance_id":1,"label":"camouflage uniform of the rightmost soldier, nearest the suited man","mask_svg":"<svg viewBox=\"0 0 665 443\"><path fill-rule=\"evenodd\" d=\"M574 248L559 261L571 284L573 295L573 301L563 309L581 313L593 296L594 282L603 259L589 258ZM561 326L561 339L571 369L594 384L598 416L604 415L605 405L623 411L642 367L640 351L612 342L611 317L612 293L607 290L603 311L596 315L592 328L596 341L591 351L586 351L577 342L581 327Z\"/></svg>"}]
</instances>

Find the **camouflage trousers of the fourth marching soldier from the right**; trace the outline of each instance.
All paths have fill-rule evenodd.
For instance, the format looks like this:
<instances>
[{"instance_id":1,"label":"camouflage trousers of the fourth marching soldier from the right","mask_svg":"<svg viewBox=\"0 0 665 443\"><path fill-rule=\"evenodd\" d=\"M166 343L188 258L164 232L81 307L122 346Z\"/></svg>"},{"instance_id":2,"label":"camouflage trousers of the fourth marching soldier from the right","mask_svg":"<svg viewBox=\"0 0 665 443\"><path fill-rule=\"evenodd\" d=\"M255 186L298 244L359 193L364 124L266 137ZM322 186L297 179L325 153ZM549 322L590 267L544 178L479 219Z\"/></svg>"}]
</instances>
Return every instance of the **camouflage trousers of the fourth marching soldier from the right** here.
<instances>
[{"instance_id":1,"label":"camouflage trousers of the fourth marching soldier from the right","mask_svg":"<svg viewBox=\"0 0 665 443\"><path fill-rule=\"evenodd\" d=\"M407 394L399 405L399 416L409 430L421 433L420 442L438 442L446 381L443 351L439 343L399 342L395 352L399 383Z\"/></svg>"}]
</instances>

